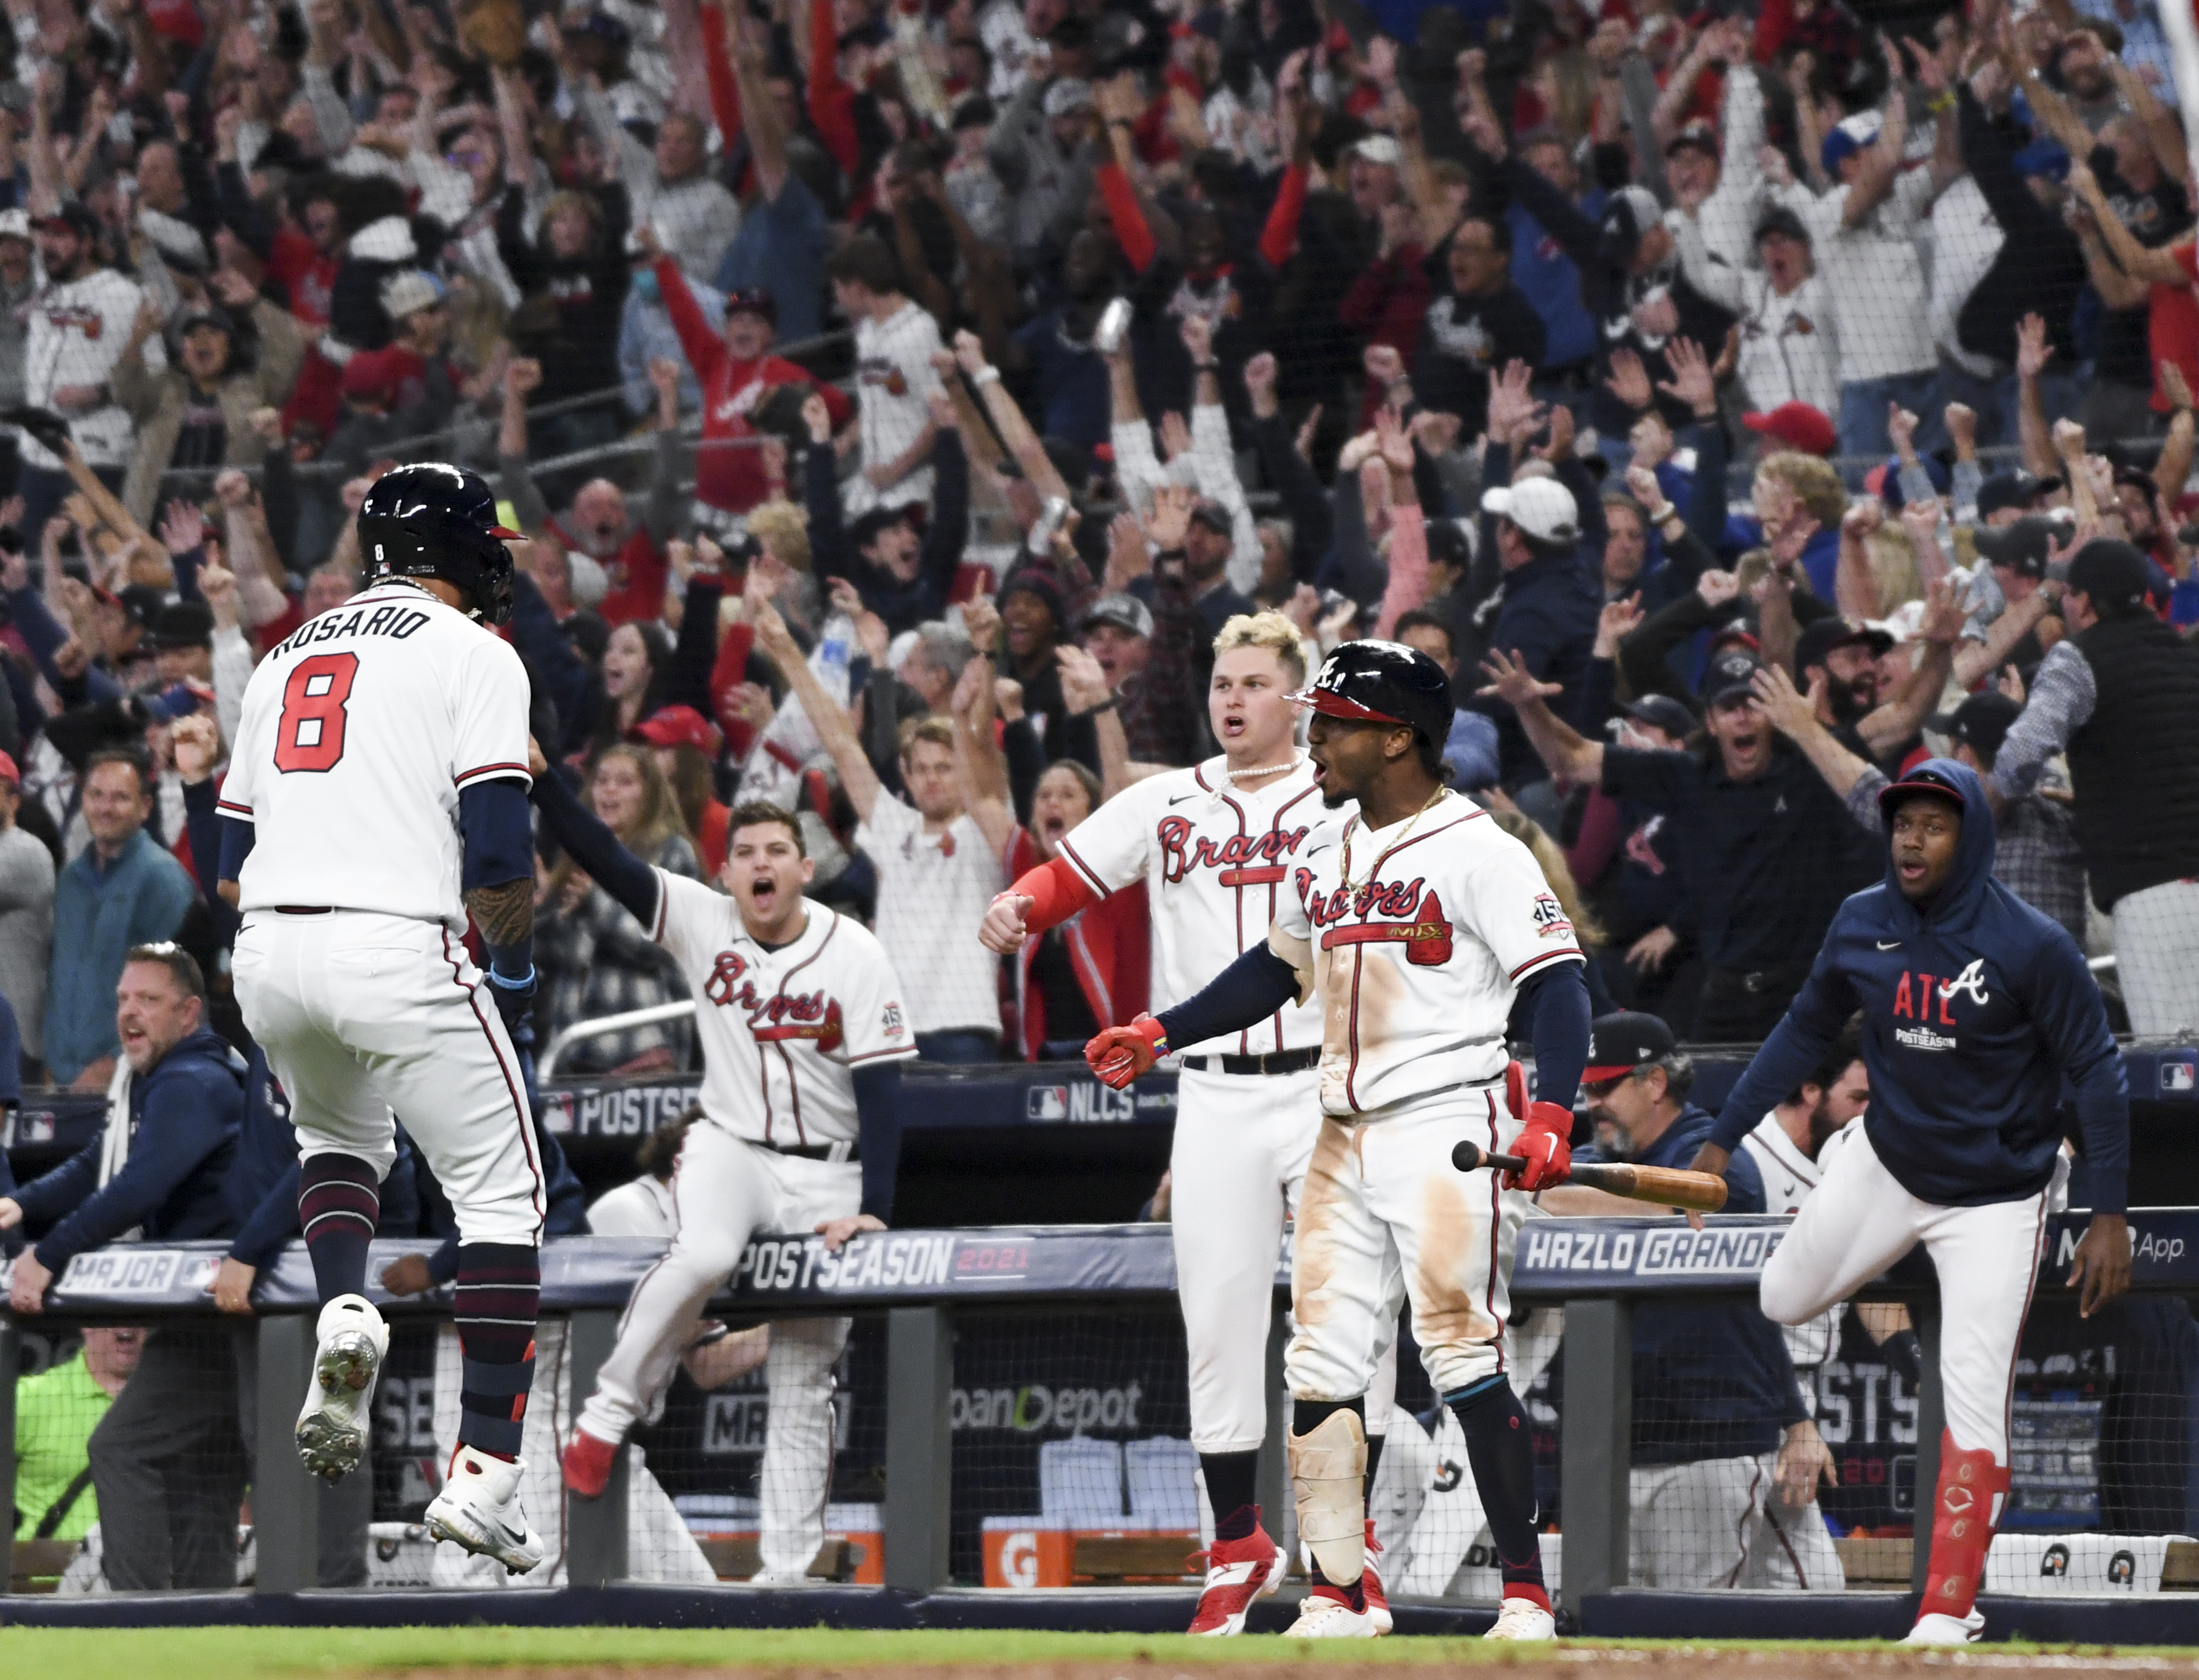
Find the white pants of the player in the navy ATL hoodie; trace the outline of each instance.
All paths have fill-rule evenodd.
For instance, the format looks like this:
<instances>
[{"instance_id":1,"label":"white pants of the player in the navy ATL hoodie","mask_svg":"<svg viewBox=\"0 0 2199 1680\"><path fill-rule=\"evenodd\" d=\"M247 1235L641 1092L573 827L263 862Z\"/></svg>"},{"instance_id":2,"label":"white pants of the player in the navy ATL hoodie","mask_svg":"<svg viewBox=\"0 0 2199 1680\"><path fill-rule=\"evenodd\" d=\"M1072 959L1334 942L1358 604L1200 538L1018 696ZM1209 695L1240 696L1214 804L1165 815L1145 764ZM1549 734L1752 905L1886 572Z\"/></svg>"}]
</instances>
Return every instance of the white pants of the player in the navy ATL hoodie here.
<instances>
[{"instance_id":1,"label":"white pants of the player in the navy ATL hoodie","mask_svg":"<svg viewBox=\"0 0 2199 1680\"><path fill-rule=\"evenodd\" d=\"M1983 1449L2005 1465L2008 1394L2045 1223L2045 1192L1983 1207L1918 1201L1863 1132L1832 1159L1766 1262L1759 1300L1775 1322L1801 1324L1922 1242L1940 1273L1946 1427L1962 1451Z\"/></svg>"}]
</instances>

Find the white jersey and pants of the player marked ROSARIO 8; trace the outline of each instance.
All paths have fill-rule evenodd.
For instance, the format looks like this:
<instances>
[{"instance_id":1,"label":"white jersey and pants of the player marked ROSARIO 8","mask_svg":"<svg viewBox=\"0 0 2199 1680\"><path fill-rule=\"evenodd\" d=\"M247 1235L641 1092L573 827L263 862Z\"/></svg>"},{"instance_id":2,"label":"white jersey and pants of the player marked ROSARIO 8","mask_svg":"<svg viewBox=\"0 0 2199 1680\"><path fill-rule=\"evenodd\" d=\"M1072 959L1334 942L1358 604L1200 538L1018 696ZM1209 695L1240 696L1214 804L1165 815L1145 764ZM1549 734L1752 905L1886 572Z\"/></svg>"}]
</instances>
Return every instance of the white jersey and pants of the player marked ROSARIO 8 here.
<instances>
[{"instance_id":1,"label":"white jersey and pants of the player marked ROSARIO 8","mask_svg":"<svg viewBox=\"0 0 2199 1680\"><path fill-rule=\"evenodd\" d=\"M528 781L519 655L380 581L279 642L244 690L220 811L253 825L233 972L301 1157L396 1159L391 1110L466 1242L539 1242L519 1058L466 957L457 796Z\"/></svg>"}]
</instances>

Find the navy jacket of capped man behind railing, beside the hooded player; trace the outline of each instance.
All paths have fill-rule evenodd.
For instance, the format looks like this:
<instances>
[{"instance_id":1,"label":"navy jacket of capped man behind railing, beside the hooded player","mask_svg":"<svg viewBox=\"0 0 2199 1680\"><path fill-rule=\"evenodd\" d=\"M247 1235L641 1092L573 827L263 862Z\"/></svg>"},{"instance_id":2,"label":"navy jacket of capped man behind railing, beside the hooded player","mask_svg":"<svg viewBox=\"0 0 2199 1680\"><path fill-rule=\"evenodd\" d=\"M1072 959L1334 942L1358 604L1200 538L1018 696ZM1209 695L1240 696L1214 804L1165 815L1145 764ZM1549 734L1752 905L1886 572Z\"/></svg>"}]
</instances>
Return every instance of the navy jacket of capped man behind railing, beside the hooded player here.
<instances>
[{"instance_id":1,"label":"navy jacket of capped man behind railing, beside the hooded player","mask_svg":"<svg viewBox=\"0 0 2199 1680\"><path fill-rule=\"evenodd\" d=\"M1684 1168L1717 1121L1689 1104L1636 1159ZM1574 1159L1592 1159L1581 1150ZM1761 1214L1764 1179L1742 1150L1726 1170L1726 1212ZM1691 1465L1702 1458L1768 1454L1808 1414L1794 1385L1786 1337L1755 1306L1634 1306L1636 1465Z\"/></svg>"}]
</instances>

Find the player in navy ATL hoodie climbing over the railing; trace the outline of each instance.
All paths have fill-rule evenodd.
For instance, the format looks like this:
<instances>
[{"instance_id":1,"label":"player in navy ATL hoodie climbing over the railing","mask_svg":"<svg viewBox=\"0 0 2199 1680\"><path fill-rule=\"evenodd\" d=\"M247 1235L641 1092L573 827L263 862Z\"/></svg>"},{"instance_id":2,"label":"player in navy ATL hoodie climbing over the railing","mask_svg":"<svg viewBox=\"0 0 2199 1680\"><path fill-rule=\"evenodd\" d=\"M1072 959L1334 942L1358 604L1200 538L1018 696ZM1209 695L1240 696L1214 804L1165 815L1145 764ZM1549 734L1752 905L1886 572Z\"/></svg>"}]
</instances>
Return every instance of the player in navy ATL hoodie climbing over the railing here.
<instances>
[{"instance_id":1,"label":"player in navy ATL hoodie climbing over the railing","mask_svg":"<svg viewBox=\"0 0 2199 1680\"><path fill-rule=\"evenodd\" d=\"M2091 1315L2131 1282L2122 1058L2069 935L1992 880L1979 778L1926 759L1880 796L1887 877L1849 897L1695 1165L1722 1172L1863 1012L1871 1104L1764 1267L1764 1311L1803 1324L1918 1242L1940 1273L1946 1429L1931 1574L1911 1645L1962 1645L2008 1493L2008 1394L2045 1238L2063 1080L2076 1091L2091 1225L2069 1286Z\"/></svg>"}]
</instances>

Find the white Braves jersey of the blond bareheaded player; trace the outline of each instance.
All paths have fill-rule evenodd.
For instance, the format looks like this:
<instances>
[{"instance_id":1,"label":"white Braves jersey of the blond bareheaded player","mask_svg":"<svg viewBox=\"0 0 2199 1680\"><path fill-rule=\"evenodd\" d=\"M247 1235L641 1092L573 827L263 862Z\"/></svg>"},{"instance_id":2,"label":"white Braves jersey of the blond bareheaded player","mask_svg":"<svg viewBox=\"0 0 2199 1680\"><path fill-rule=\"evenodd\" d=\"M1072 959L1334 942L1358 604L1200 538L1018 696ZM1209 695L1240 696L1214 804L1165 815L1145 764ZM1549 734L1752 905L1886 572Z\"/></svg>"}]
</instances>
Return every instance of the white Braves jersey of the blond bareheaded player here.
<instances>
[{"instance_id":1,"label":"white Braves jersey of the blond bareheaded player","mask_svg":"<svg viewBox=\"0 0 2199 1680\"><path fill-rule=\"evenodd\" d=\"M1267 939L1282 913L1291 862L1328 811L1311 761L1253 789L1227 759L1132 783L1062 840L1062 855L1106 897L1146 882L1152 904L1152 1012L1172 1009ZM1176 1051L1264 1055L1322 1042L1322 1012L1289 1005L1227 1038Z\"/></svg>"}]
</instances>

